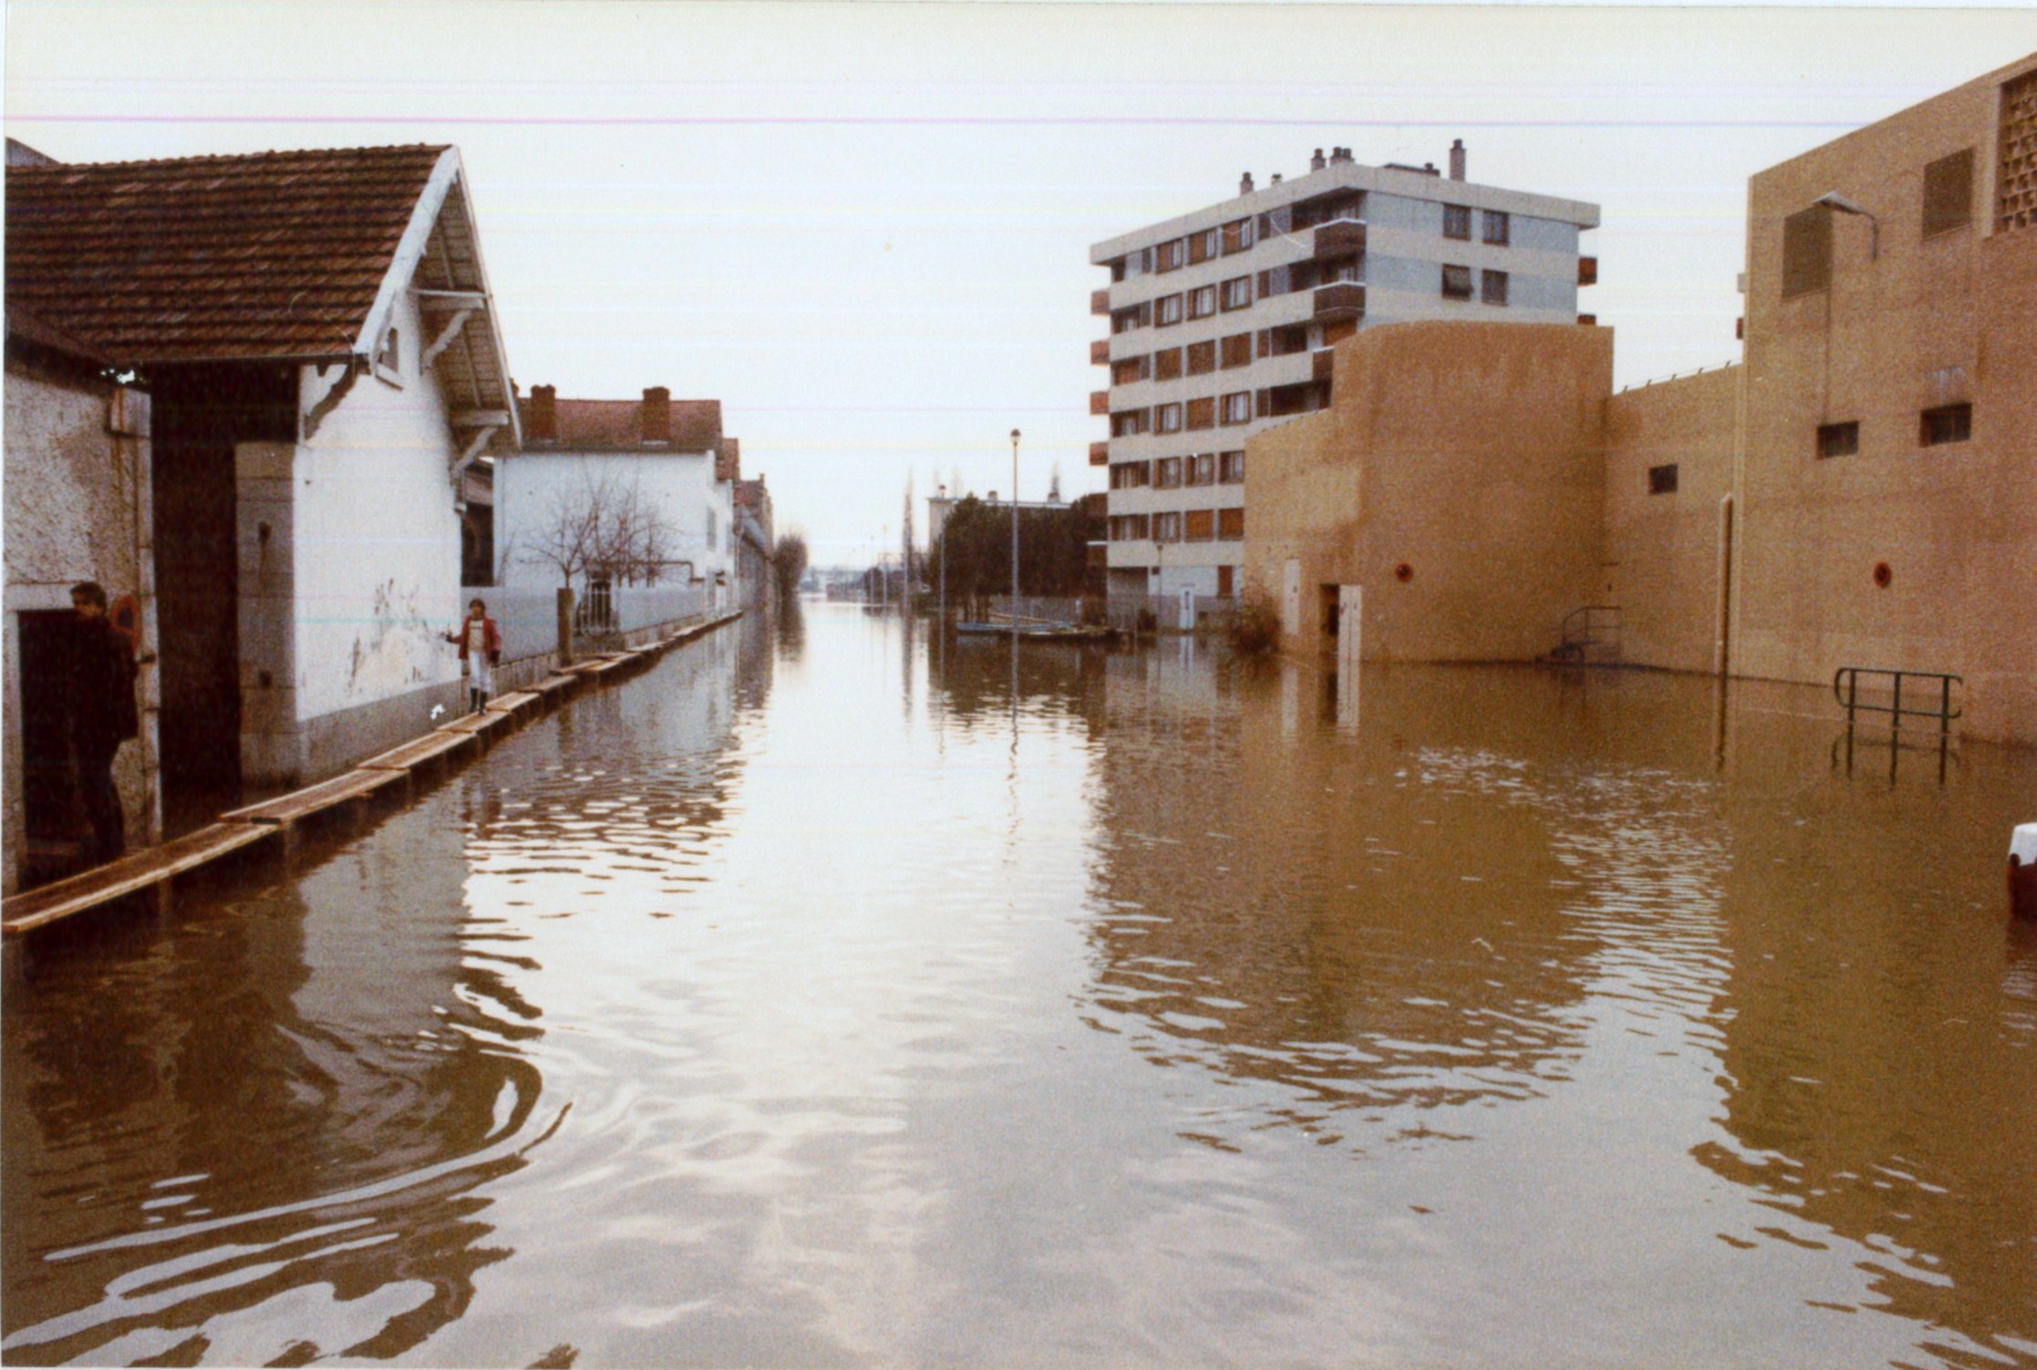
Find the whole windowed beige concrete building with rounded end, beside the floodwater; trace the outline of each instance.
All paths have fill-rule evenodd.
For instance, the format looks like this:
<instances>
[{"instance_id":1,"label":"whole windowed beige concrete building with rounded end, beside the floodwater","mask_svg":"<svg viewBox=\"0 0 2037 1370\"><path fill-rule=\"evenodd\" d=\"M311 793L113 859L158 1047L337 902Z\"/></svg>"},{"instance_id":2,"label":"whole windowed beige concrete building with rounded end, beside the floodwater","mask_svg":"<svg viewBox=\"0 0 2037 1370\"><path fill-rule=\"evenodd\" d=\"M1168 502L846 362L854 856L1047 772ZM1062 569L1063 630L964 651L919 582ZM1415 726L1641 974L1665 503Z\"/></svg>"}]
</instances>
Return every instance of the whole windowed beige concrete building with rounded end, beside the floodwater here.
<instances>
[{"instance_id":1,"label":"whole windowed beige concrete building with rounded end, beside the floodwater","mask_svg":"<svg viewBox=\"0 0 2037 1370\"><path fill-rule=\"evenodd\" d=\"M1351 584L1367 660L1951 672L2037 743L2037 55L1752 177L1744 289L1744 364L1619 395L1609 330L1340 342L1247 448L1283 645Z\"/></svg>"}]
</instances>

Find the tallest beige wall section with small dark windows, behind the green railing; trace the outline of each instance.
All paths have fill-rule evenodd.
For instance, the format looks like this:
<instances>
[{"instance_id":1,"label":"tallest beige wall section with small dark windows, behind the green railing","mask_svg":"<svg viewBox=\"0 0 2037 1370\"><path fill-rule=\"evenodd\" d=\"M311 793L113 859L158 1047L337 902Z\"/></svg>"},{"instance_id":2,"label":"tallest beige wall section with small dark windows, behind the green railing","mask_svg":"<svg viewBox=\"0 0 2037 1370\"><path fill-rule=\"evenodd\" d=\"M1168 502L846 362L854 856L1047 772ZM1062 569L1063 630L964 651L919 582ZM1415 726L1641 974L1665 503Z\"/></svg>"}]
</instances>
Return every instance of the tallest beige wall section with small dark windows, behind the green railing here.
<instances>
[{"instance_id":1,"label":"tallest beige wall section with small dark windows, behind the green railing","mask_svg":"<svg viewBox=\"0 0 2037 1370\"><path fill-rule=\"evenodd\" d=\"M1968 733L2037 741L2037 228L1994 232L1998 88L2037 57L1762 171L1748 187L1738 674L1958 672ZM1972 149L1972 220L1923 236L1923 171ZM1831 285L1782 299L1782 220L1839 191ZM1972 440L1921 446L1968 401ZM1819 423L1860 450L1819 460ZM1886 564L1890 580L1876 584Z\"/></svg>"}]
</instances>

